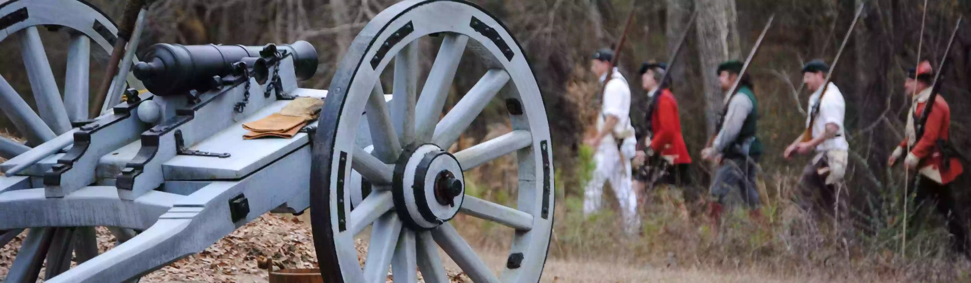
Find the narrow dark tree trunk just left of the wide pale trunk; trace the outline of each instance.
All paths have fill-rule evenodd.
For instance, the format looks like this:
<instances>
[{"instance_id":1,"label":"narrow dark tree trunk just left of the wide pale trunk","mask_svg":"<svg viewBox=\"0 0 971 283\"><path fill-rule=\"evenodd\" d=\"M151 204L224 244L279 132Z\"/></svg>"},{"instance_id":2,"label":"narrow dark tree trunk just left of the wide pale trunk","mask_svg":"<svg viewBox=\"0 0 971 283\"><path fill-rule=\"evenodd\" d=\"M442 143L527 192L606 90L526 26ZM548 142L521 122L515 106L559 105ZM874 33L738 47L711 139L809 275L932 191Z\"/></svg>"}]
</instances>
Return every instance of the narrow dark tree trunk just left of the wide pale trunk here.
<instances>
[{"instance_id":1,"label":"narrow dark tree trunk just left of the wide pale trunk","mask_svg":"<svg viewBox=\"0 0 971 283\"><path fill-rule=\"evenodd\" d=\"M667 38L668 55L678 49L678 40L685 29L688 28L687 20L691 17L691 0L666 0L667 2L667 24L665 35ZM671 82L675 89L685 89L685 74L687 51L682 47L681 59L676 60L674 65L668 66L671 73Z\"/></svg>"}]
</instances>

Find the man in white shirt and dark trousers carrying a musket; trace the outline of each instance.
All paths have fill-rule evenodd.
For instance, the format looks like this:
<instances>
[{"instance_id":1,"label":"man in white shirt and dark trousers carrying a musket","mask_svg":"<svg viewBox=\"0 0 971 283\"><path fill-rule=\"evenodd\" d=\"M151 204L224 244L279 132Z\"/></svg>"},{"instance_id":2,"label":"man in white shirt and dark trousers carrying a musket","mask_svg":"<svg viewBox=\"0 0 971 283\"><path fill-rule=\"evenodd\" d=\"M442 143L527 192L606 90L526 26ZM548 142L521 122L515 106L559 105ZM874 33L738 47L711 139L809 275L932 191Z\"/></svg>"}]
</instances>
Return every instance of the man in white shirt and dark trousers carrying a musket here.
<instances>
[{"instance_id":1,"label":"man in white shirt and dark trousers carrying a musket","mask_svg":"<svg viewBox=\"0 0 971 283\"><path fill-rule=\"evenodd\" d=\"M843 120L846 116L846 102L840 88L833 83L823 84L829 65L820 59L812 60L802 67L803 83L813 91L809 97L809 111L806 118L806 132L790 144L784 158L816 152L813 159L803 169L800 179L798 203L803 209L815 213L833 212L837 209L845 214L846 199L839 200L843 175L846 172L847 154L850 144L844 137ZM825 92L823 92L825 91ZM837 215L833 215L834 217Z\"/></svg>"}]
</instances>

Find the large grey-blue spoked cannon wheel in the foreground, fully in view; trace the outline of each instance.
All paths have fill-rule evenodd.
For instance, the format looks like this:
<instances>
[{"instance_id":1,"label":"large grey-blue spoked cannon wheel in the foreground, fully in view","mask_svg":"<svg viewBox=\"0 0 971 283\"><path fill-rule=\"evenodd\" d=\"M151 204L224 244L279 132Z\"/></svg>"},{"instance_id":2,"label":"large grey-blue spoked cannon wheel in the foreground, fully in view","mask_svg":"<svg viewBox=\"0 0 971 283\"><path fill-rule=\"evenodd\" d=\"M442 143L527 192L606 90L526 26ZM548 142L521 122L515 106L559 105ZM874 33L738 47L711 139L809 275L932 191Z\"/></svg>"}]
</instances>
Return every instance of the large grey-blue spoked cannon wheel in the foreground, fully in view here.
<instances>
[{"instance_id":1,"label":"large grey-blue spoked cannon wheel in the foreground, fully in view","mask_svg":"<svg viewBox=\"0 0 971 283\"><path fill-rule=\"evenodd\" d=\"M441 46L418 89L418 40L425 36L441 37ZM477 72L459 66L463 55L485 62L479 70L485 75L440 119L455 73ZM392 99L385 102L379 77L389 65ZM447 152L494 99L507 106L512 132ZM519 165L516 207L464 194L463 171L506 155L515 155ZM389 269L395 282L416 282L417 269L425 282L449 282L439 247L474 282L539 281L554 202L549 124L525 54L480 7L404 1L368 23L331 82L313 162L312 224L325 282L385 282ZM370 194L359 194L361 183ZM485 265L454 229L458 213L515 230L501 272ZM367 227L362 267L354 237Z\"/></svg>"}]
</instances>

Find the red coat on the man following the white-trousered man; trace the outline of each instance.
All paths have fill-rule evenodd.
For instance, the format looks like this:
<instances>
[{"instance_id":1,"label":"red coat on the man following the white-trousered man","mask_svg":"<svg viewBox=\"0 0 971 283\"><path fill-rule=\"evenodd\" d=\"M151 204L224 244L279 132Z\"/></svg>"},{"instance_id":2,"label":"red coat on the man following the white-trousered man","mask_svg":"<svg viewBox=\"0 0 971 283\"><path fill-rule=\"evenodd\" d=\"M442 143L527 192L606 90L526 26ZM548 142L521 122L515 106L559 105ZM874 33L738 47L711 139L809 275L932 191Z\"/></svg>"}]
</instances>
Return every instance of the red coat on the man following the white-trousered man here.
<instances>
[{"instance_id":1,"label":"red coat on the man following the white-trousered man","mask_svg":"<svg viewBox=\"0 0 971 283\"><path fill-rule=\"evenodd\" d=\"M674 158L675 164L690 163L687 155L685 137L681 134L681 118L678 116L678 101L674 99L670 89L660 91L657 105L651 117L653 138L651 148L661 156Z\"/></svg>"}]
</instances>

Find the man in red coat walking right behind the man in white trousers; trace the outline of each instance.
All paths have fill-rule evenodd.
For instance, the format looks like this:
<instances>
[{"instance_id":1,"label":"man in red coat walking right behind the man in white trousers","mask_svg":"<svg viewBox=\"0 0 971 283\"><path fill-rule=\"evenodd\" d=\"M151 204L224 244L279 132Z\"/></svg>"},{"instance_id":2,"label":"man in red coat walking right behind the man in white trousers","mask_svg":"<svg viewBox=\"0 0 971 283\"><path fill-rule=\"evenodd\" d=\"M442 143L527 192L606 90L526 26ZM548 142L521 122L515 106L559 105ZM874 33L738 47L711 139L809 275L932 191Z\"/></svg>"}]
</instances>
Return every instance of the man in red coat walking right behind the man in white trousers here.
<instances>
[{"instance_id":1,"label":"man in red coat walking right behind the man in white trousers","mask_svg":"<svg viewBox=\"0 0 971 283\"><path fill-rule=\"evenodd\" d=\"M688 183L687 168L691 157L687 154L685 138L681 133L678 102L668 88L670 79L664 79L666 72L664 63L654 61L642 64L638 72L641 74L641 87L648 92L649 102L645 110L646 126L638 129L638 134L643 133L644 139L638 144L641 149L634 164L648 162L638 166L634 179L638 183L650 182L653 181L653 174L662 173L657 183L682 186ZM664 169L665 172L653 172L653 169ZM639 188L636 192L641 193L642 190Z\"/></svg>"}]
</instances>

